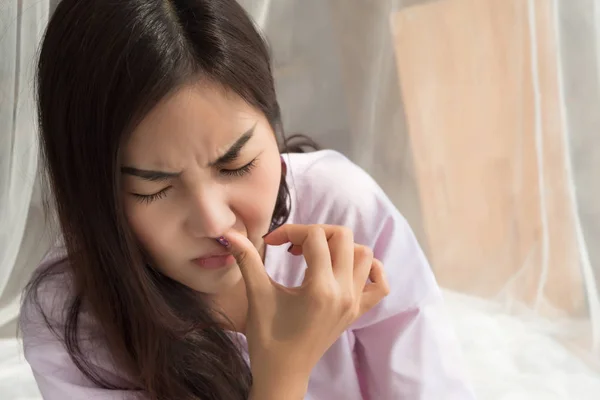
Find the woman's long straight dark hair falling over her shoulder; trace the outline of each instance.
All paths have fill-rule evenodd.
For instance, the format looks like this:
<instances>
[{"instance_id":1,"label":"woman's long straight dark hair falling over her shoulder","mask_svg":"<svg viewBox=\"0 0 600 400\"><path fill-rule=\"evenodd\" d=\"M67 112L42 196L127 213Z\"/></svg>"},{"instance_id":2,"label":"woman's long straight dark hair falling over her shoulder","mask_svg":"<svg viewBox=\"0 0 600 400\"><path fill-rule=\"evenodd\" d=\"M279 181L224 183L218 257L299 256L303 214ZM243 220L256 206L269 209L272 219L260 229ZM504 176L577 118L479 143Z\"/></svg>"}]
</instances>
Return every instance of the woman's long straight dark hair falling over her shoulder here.
<instances>
[{"instance_id":1,"label":"woman's long straight dark hair falling over her shoulder","mask_svg":"<svg viewBox=\"0 0 600 400\"><path fill-rule=\"evenodd\" d=\"M106 380L82 351L82 307L130 389L150 399L246 399L252 377L236 343L191 289L154 272L121 204L122 145L165 96L198 80L221 85L262 112L282 151L270 55L234 0L62 0L45 33L37 70L42 160L67 250L73 295L65 321L51 326L75 365ZM272 228L289 215L282 176ZM26 298L58 270L41 271Z\"/></svg>"}]
</instances>

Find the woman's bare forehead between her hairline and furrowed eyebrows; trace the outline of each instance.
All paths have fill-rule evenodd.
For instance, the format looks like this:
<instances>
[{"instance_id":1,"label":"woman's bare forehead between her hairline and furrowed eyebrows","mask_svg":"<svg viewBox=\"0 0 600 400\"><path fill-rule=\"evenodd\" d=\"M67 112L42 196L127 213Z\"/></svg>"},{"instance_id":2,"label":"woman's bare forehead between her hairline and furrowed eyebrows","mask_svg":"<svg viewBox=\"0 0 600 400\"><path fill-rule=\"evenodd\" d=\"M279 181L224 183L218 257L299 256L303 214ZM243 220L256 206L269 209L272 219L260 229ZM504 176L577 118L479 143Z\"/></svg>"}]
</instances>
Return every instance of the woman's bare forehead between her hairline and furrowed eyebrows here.
<instances>
[{"instance_id":1,"label":"woman's bare forehead between her hairline and furrowed eyebrows","mask_svg":"<svg viewBox=\"0 0 600 400\"><path fill-rule=\"evenodd\" d=\"M210 160L252 127L260 113L239 96L194 84L157 104L132 132L124 162L178 168L186 156Z\"/></svg>"}]
</instances>

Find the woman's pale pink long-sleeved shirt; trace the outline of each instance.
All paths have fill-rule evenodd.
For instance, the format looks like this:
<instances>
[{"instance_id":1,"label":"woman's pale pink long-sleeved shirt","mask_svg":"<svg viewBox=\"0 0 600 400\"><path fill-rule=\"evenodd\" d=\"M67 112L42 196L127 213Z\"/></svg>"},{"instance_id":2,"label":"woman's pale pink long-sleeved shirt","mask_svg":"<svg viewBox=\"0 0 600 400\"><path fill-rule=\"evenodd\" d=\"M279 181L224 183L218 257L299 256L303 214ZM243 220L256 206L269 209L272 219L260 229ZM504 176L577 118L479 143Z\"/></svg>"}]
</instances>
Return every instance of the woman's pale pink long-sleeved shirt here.
<instances>
[{"instance_id":1,"label":"woman's pale pink long-sleeved shirt","mask_svg":"<svg viewBox=\"0 0 600 400\"><path fill-rule=\"evenodd\" d=\"M355 241L371 247L383 262L391 289L325 353L305 399L474 399L440 289L406 220L374 180L341 154L326 150L284 157L292 195L288 222L350 227ZM265 267L281 284L299 285L304 265L286 246L267 249ZM44 307L57 316L61 293L68 289L64 284L45 285L41 293ZM45 399L143 398L95 388L28 304L21 323L25 357ZM245 350L244 336L237 335ZM108 355L102 349L94 354L95 363L116 379L111 364L103 364Z\"/></svg>"}]
</instances>

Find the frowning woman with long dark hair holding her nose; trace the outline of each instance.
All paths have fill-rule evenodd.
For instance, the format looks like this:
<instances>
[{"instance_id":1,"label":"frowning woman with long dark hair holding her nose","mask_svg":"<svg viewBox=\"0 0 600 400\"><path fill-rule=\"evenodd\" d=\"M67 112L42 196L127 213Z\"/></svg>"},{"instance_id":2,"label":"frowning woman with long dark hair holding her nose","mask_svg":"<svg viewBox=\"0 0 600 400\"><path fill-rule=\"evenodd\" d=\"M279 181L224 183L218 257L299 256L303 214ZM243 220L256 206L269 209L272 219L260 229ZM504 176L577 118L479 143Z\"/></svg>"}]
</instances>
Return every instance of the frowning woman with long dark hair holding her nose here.
<instances>
[{"instance_id":1,"label":"frowning woman with long dark hair holding her nose","mask_svg":"<svg viewBox=\"0 0 600 400\"><path fill-rule=\"evenodd\" d=\"M278 145L234 0L63 0L37 91L62 244L21 327L45 398L472 398L406 221L340 154Z\"/></svg>"}]
</instances>

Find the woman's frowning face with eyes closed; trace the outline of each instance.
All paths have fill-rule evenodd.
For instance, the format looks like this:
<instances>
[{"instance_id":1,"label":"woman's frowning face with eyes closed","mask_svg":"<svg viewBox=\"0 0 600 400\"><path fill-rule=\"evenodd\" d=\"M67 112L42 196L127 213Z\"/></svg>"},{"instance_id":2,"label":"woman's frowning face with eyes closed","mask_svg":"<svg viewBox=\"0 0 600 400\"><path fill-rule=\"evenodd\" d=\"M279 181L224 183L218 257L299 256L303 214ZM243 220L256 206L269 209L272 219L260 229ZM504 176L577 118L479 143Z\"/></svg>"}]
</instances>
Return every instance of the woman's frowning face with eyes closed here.
<instances>
[{"instance_id":1,"label":"woman's frowning face with eyes closed","mask_svg":"<svg viewBox=\"0 0 600 400\"><path fill-rule=\"evenodd\" d=\"M239 97L184 87L138 125L121 167L129 224L163 274L226 294L241 272L215 238L235 229L264 254L281 161L265 116Z\"/></svg>"}]
</instances>

